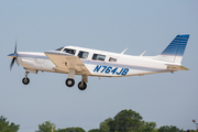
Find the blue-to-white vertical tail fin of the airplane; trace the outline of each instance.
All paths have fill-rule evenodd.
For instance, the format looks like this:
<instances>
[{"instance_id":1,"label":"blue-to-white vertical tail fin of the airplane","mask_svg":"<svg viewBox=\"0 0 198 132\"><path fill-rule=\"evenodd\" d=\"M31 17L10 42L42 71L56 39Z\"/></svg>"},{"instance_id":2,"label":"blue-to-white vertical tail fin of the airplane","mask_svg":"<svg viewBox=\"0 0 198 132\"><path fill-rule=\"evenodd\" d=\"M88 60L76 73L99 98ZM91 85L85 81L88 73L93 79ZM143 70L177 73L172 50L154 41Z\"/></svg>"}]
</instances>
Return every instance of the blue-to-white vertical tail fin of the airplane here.
<instances>
[{"instance_id":1,"label":"blue-to-white vertical tail fin of the airplane","mask_svg":"<svg viewBox=\"0 0 198 132\"><path fill-rule=\"evenodd\" d=\"M177 35L155 59L180 64L189 34Z\"/></svg>"}]
</instances>

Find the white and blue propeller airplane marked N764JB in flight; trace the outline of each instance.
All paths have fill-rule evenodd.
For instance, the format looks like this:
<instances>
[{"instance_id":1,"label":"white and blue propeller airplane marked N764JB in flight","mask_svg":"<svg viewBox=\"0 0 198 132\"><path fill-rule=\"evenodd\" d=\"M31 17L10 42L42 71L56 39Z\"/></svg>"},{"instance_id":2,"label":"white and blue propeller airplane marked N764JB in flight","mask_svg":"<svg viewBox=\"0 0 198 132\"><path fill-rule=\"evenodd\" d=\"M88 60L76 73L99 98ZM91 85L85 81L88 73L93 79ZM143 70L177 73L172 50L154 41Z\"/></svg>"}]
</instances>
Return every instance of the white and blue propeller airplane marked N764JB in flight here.
<instances>
[{"instance_id":1,"label":"white and blue propeller airplane marked N764JB in flight","mask_svg":"<svg viewBox=\"0 0 198 132\"><path fill-rule=\"evenodd\" d=\"M64 46L44 53L16 52L9 54L12 58L10 70L16 62L25 69L24 85L30 82L28 75L37 72L68 74L65 81L67 87L75 85L75 75L81 76L78 84L80 90L87 88L88 76L127 77L148 74L174 73L189 70L182 66L183 55L189 34L177 35L169 45L156 56L131 56L122 53L111 53L78 46Z\"/></svg>"}]
</instances>

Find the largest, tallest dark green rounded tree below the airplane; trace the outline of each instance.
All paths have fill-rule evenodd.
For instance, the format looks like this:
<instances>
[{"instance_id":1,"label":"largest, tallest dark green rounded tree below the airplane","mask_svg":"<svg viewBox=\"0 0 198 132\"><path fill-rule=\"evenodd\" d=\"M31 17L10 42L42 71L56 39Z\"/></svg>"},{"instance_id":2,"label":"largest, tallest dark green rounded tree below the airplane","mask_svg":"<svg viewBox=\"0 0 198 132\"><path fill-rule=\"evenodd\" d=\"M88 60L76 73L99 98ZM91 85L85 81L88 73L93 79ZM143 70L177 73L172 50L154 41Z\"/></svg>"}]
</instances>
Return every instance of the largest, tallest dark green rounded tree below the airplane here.
<instances>
[{"instance_id":1,"label":"largest, tallest dark green rounded tree below the airplane","mask_svg":"<svg viewBox=\"0 0 198 132\"><path fill-rule=\"evenodd\" d=\"M140 113L131 109L120 111L113 119L106 119L99 130L96 132L157 132L155 122L143 121Z\"/></svg>"}]
</instances>

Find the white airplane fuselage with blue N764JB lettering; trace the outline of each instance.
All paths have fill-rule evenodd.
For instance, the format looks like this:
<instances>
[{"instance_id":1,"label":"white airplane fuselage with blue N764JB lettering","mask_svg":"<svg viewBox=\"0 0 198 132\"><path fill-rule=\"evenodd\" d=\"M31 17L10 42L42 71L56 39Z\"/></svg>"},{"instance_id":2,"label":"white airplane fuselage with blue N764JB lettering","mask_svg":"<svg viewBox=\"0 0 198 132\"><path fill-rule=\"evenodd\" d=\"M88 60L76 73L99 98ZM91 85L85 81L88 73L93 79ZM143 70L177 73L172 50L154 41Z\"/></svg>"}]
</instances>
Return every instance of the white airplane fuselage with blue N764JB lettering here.
<instances>
[{"instance_id":1,"label":"white airplane fuselage with blue N764JB lettering","mask_svg":"<svg viewBox=\"0 0 198 132\"><path fill-rule=\"evenodd\" d=\"M68 50L75 51L73 55L79 56L85 64L89 70L89 73L86 73L87 76L123 77L173 72L173 69L167 68L167 64L172 65L172 63L156 61L153 58L154 56L131 56L77 46L65 46L57 50L57 52L62 53ZM81 56L81 53L84 56ZM96 56L97 58L95 58ZM69 72L57 70L55 68L56 65L44 53L18 52L16 61L25 69L33 72L63 74L68 74ZM78 72L75 74L81 75Z\"/></svg>"}]
</instances>

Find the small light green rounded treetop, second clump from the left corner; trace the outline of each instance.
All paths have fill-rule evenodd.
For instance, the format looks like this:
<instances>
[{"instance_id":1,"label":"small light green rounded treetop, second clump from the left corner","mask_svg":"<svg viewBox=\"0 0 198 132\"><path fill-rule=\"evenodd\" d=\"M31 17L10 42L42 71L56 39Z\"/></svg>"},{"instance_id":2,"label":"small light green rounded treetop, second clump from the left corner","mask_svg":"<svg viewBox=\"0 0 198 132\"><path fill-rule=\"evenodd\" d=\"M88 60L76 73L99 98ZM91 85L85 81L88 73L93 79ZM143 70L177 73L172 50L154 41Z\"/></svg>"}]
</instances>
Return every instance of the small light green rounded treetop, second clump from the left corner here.
<instances>
[{"instance_id":1,"label":"small light green rounded treetop, second clump from the left corner","mask_svg":"<svg viewBox=\"0 0 198 132\"><path fill-rule=\"evenodd\" d=\"M38 131L36 132L52 132L52 128L53 132L56 132L56 125L54 123L51 123L50 121L45 121L44 123L38 124Z\"/></svg>"}]
</instances>

